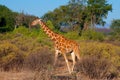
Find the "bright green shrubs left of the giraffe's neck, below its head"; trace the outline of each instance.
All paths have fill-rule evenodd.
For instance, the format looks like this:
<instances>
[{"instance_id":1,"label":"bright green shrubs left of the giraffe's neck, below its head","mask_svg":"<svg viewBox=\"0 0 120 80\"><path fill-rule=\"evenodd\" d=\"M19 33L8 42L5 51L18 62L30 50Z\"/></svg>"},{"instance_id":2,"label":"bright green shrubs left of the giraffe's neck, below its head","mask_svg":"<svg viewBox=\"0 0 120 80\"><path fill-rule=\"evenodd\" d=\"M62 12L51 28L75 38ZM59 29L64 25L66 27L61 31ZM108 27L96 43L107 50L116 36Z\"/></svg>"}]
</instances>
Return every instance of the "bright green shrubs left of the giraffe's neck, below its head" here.
<instances>
[{"instance_id":1,"label":"bright green shrubs left of the giraffe's neck, below its head","mask_svg":"<svg viewBox=\"0 0 120 80\"><path fill-rule=\"evenodd\" d=\"M31 40L32 38L34 41L36 40L36 42L39 42L41 45L47 45L51 47L50 39L48 39L48 36L41 29L34 28L29 30L24 26L20 26L19 28L14 30L12 34L14 34L15 38L16 37L19 37L21 39L26 38L26 40L28 39ZM26 41L26 40L23 40L23 41Z\"/></svg>"}]
</instances>

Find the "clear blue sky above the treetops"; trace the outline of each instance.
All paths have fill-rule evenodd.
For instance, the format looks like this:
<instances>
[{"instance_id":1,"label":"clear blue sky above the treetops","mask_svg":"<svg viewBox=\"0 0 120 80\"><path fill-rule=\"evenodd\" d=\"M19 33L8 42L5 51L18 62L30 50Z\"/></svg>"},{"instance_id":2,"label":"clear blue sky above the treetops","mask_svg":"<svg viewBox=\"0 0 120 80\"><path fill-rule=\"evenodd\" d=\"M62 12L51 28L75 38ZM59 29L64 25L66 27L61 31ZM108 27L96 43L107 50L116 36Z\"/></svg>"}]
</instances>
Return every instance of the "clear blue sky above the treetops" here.
<instances>
[{"instance_id":1,"label":"clear blue sky above the treetops","mask_svg":"<svg viewBox=\"0 0 120 80\"><path fill-rule=\"evenodd\" d=\"M5 5L14 12L24 12L26 14L43 16L55 8L68 4L69 0L0 0L0 5ZM120 0L107 0L112 4L113 10L109 12L107 24L110 24L114 19L120 19Z\"/></svg>"}]
</instances>

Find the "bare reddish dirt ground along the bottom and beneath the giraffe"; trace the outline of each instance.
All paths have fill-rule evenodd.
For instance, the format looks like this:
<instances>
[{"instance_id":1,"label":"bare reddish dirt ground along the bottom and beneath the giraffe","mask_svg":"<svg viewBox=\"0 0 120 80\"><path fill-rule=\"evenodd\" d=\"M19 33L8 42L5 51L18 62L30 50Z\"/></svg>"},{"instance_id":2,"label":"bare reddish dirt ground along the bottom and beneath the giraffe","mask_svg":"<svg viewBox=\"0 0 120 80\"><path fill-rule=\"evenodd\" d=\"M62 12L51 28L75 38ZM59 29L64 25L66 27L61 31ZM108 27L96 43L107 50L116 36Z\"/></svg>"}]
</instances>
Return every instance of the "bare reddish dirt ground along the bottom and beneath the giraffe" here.
<instances>
[{"instance_id":1,"label":"bare reddish dirt ground along the bottom and beneath the giraffe","mask_svg":"<svg viewBox=\"0 0 120 80\"><path fill-rule=\"evenodd\" d=\"M87 76L84 76L82 74L71 76L68 72L66 63L63 60L64 60L63 58L58 60L56 66L54 67L54 70L52 72L53 75L52 77L56 79L52 79L52 80L95 80L95 79L89 79ZM70 65L72 65L72 63L70 63ZM37 79L35 79L36 75L37 75ZM20 72L0 71L0 80L45 80L45 79L41 79L39 72L38 74L36 74L36 71L22 70ZM120 80L120 79L114 79L114 80Z\"/></svg>"}]
</instances>

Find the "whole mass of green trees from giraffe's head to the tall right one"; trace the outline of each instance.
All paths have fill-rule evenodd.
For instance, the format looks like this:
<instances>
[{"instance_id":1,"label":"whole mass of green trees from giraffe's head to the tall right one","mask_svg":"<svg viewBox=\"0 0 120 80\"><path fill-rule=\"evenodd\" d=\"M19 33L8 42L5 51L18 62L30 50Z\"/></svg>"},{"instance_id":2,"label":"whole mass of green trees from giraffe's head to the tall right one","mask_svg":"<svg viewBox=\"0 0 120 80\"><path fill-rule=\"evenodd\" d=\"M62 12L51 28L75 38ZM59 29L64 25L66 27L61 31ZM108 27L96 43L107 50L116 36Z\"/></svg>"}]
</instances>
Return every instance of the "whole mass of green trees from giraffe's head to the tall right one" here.
<instances>
[{"instance_id":1,"label":"whole mass of green trees from giraffe's head to the tall right one","mask_svg":"<svg viewBox=\"0 0 120 80\"><path fill-rule=\"evenodd\" d=\"M42 18L51 20L56 29L63 24L77 25L81 30L104 25L104 18L112 10L112 5L106 0L69 0L68 5L61 6L53 12L46 13ZM74 28L74 27L73 27Z\"/></svg>"}]
</instances>

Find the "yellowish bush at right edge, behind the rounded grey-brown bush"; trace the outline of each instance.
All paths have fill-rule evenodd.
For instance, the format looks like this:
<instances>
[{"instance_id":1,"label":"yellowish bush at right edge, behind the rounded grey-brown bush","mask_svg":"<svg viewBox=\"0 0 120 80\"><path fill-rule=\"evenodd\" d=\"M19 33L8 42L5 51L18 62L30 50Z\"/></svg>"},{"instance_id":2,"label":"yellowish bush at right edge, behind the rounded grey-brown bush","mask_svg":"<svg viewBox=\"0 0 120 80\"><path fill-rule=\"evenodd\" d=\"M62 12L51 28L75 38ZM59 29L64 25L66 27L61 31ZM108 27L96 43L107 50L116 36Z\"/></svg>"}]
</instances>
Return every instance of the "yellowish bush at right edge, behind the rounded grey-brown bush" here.
<instances>
[{"instance_id":1,"label":"yellowish bush at right edge, behind the rounded grey-brown bush","mask_svg":"<svg viewBox=\"0 0 120 80\"><path fill-rule=\"evenodd\" d=\"M109 65L109 63L111 63L111 67L108 67L108 68L110 68L109 74L112 74L116 77L119 76L118 68L120 67L120 55L119 55L120 47L112 45L112 44L108 44L108 43L99 43L99 42L93 42L93 41L92 42L81 42L80 46L81 46L80 47L81 56L82 57L90 56L90 60L91 60L91 64L89 64L90 60L88 58L87 59L85 58L86 62L83 59L82 61L84 64L86 64L86 65L89 64L90 66L93 66L94 63L98 64L97 62L100 62L100 64L98 64L98 67L96 66L96 68L98 68L98 70L99 70L99 68L101 68L100 66L102 66L102 64L104 65L104 63L105 63L106 67L107 67L107 65ZM97 61L97 59L94 59L94 56L97 57L98 61ZM92 60L95 60L97 62L92 61ZM102 60L102 62L101 62L101 60ZM83 64L83 63L81 63L81 64ZM101 76L101 78L102 78L102 76Z\"/></svg>"}]
</instances>

